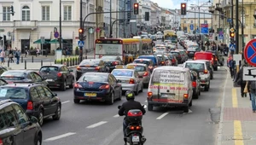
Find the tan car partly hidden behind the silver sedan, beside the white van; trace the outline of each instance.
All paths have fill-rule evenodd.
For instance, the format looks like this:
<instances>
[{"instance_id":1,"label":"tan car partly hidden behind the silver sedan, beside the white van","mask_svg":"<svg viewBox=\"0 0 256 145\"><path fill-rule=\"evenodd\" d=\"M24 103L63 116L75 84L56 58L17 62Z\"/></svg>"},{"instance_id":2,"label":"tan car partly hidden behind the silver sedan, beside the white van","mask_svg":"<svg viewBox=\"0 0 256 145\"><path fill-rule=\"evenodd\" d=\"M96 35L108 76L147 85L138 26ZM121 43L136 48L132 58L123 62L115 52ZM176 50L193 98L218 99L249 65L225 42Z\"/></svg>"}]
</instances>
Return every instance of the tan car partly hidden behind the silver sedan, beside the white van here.
<instances>
[{"instance_id":1,"label":"tan car partly hidden behind the silver sedan, beside the white van","mask_svg":"<svg viewBox=\"0 0 256 145\"><path fill-rule=\"evenodd\" d=\"M151 75L150 71L148 70L148 66L142 63L130 63L126 65L126 67L131 67L131 66L134 67L135 71L137 71L137 73L140 76L143 76L143 78L141 78L143 80L143 85L148 86L150 75Z\"/></svg>"}]
</instances>

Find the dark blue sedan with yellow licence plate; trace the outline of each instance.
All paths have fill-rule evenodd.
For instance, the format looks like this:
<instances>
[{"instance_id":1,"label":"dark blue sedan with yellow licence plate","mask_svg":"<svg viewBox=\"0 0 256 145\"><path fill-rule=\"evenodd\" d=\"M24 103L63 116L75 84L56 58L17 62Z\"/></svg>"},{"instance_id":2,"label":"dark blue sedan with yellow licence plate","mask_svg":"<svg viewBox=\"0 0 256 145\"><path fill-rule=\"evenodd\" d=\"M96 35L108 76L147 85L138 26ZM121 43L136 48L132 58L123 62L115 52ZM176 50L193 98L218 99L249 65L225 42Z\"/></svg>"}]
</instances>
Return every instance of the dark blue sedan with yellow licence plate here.
<instances>
[{"instance_id":1,"label":"dark blue sedan with yellow licence plate","mask_svg":"<svg viewBox=\"0 0 256 145\"><path fill-rule=\"evenodd\" d=\"M115 69L114 69L115 70ZM107 102L122 99L122 85L110 73L84 73L73 87L73 102L84 101Z\"/></svg>"}]
</instances>

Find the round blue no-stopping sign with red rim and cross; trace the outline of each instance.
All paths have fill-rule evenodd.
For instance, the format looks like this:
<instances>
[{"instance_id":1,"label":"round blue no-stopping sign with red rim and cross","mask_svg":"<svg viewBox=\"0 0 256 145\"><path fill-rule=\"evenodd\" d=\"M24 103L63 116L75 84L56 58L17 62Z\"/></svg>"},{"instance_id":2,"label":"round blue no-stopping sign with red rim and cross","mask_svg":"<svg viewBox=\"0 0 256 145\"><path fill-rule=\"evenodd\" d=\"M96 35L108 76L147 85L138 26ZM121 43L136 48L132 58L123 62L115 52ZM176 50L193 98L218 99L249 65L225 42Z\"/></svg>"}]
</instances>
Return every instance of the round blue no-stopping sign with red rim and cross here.
<instances>
[{"instance_id":1,"label":"round blue no-stopping sign with red rim and cross","mask_svg":"<svg viewBox=\"0 0 256 145\"><path fill-rule=\"evenodd\" d=\"M256 67L256 39L250 40L244 48L244 58L247 63Z\"/></svg>"}]
</instances>

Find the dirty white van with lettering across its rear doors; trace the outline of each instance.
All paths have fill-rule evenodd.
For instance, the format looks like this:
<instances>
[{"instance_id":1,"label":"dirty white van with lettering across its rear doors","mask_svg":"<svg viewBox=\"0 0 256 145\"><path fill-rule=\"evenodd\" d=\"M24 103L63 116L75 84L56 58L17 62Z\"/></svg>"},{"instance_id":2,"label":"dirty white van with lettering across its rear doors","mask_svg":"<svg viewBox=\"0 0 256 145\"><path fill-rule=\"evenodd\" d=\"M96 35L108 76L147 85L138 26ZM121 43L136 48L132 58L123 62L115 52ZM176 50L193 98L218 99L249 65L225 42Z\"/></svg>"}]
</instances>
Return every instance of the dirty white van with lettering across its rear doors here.
<instances>
[{"instance_id":1,"label":"dirty white van with lettering across its rear doors","mask_svg":"<svg viewBox=\"0 0 256 145\"><path fill-rule=\"evenodd\" d=\"M148 85L148 111L153 111L154 107L183 107L184 113L188 113L192 96L188 68L154 68Z\"/></svg>"}]
</instances>

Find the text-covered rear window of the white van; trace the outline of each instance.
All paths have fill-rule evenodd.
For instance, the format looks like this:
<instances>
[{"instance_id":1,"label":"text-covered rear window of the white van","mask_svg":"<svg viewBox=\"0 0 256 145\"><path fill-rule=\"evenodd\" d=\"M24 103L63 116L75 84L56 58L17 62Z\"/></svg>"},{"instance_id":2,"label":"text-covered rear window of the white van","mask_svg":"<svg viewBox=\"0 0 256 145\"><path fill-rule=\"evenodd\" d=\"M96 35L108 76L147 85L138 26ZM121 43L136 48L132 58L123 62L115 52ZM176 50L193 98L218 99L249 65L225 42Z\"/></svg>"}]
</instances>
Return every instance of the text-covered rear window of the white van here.
<instances>
[{"instance_id":1,"label":"text-covered rear window of the white van","mask_svg":"<svg viewBox=\"0 0 256 145\"><path fill-rule=\"evenodd\" d=\"M184 84L185 77L183 72L171 70L156 70L153 73L151 83Z\"/></svg>"}]
</instances>

